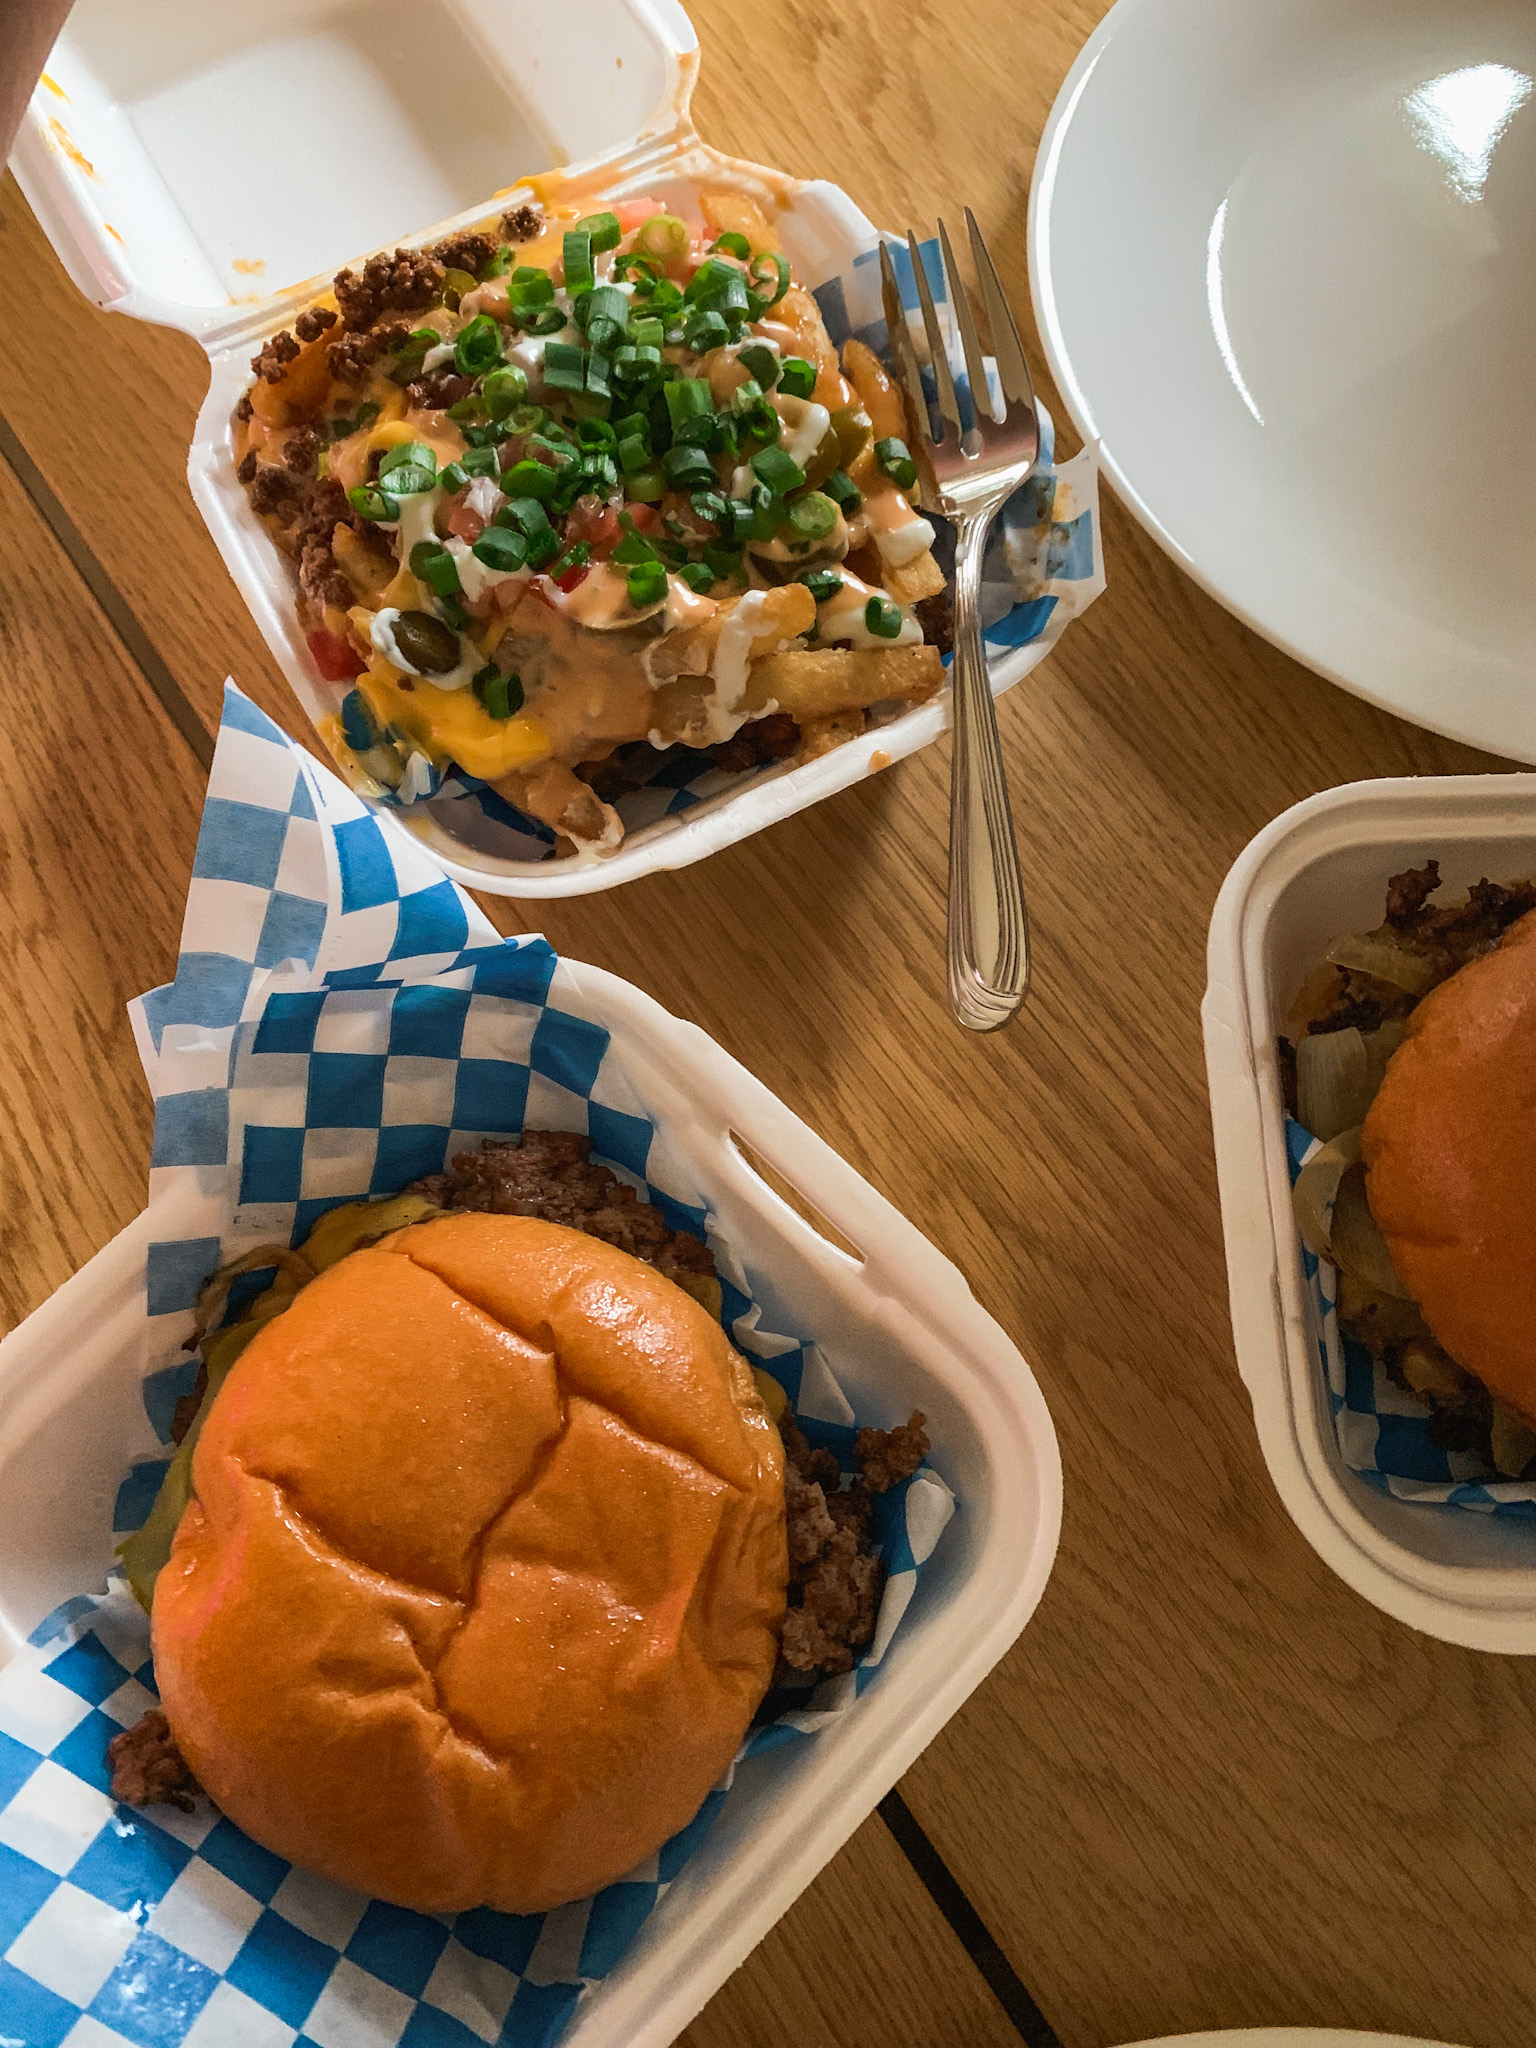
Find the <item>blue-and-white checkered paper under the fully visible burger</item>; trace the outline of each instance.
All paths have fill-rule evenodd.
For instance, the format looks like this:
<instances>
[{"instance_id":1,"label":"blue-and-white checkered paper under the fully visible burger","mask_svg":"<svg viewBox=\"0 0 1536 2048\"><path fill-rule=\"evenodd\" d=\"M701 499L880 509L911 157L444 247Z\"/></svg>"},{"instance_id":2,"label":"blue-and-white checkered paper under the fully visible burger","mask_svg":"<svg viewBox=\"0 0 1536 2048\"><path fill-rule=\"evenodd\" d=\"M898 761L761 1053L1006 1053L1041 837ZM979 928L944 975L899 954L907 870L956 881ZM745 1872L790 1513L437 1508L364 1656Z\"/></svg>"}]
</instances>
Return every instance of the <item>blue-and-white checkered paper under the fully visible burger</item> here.
<instances>
[{"instance_id":1,"label":"blue-and-white checkered paper under the fully visible burger","mask_svg":"<svg viewBox=\"0 0 1536 2048\"><path fill-rule=\"evenodd\" d=\"M723 1321L803 1430L852 1468L856 1419L815 1341L762 1329L748 1274L582 1016L543 938L502 940L389 817L375 817L233 686L213 760L176 979L133 1004L156 1096L145 1454L115 1530L139 1526L170 1456L182 1352L207 1276L326 1208L395 1192L481 1137L586 1130L676 1229L715 1249ZM238 1284L236 1307L264 1286ZM879 1503L887 1563L862 1663L743 1755L795 1745L877 1677L954 1511L918 1473ZM57 1608L0 1669L4 2048L549 2048L709 1833L731 1774L643 1868L545 1915L406 1913L258 1847L207 1800L137 1812L106 1745L154 1702L150 1624L121 1577Z\"/></svg>"}]
</instances>

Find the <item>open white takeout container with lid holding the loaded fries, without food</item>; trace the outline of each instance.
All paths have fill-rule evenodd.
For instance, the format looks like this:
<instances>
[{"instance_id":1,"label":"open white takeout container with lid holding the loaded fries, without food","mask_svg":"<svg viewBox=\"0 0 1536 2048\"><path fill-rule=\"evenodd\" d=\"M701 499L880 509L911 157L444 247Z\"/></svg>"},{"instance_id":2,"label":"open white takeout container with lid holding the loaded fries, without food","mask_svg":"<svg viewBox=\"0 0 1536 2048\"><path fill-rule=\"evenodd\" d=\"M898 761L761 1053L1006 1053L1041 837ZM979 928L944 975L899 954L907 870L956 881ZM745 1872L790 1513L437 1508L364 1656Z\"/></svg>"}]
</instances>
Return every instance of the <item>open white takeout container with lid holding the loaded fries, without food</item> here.
<instances>
[{"instance_id":1,"label":"open white takeout container with lid holding the loaded fries, without food","mask_svg":"<svg viewBox=\"0 0 1536 2048\"><path fill-rule=\"evenodd\" d=\"M256 346L338 266L479 225L498 193L557 164L614 199L686 207L700 188L741 186L772 203L811 285L874 246L838 186L700 143L696 70L676 0L276 0L258 12L76 0L16 141L16 178L90 299L207 348L193 496L311 719L344 690L319 678L289 565L236 481L231 414ZM1042 653L999 651L993 692ZM657 819L604 860L506 860L420 809L401 815L471 889L586 895L731 846L928 745L946 721L940 692L864 741Z\"/></svg>"}]
</instances>

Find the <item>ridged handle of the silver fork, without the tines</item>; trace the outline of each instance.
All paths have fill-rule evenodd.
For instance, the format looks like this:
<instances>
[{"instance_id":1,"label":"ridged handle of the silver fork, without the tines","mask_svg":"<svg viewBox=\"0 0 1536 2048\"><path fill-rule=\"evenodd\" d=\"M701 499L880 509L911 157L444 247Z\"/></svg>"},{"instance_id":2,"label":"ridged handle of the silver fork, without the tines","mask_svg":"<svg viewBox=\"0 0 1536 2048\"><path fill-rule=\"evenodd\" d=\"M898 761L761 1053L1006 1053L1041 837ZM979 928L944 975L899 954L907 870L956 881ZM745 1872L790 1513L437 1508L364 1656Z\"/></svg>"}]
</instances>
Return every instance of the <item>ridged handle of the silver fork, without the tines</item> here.
<instances>
[{"instance_id":1,"label":"ridged handle of the silver fork, without the tines","mask_svg":"<svg viewBox=\"0 0 1536 2048\"><path fill-rule=\"evenodd\" d=\"M999 1030L1030 983L1030 926L1008 805L997 709L981 643L981 557L991 512L956 522L954 752L950 756L950 1010L967 1030Z\"/></svg>"}]
</instances>

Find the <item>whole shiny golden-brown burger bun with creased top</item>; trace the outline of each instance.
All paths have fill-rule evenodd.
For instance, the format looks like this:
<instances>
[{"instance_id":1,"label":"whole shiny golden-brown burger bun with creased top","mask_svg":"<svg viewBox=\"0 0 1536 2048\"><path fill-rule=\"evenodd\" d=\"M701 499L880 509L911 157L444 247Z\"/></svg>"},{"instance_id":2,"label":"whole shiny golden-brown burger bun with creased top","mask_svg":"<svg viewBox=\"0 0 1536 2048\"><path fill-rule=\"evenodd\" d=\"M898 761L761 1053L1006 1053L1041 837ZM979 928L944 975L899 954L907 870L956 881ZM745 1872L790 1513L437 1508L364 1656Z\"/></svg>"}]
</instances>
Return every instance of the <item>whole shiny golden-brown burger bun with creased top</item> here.
<instances>
[{"instance_id":1,"label":"whole shiny golden-brown burger bun with creased top","mask_svg":"<svg viewBox=\"0 0 1536 2048\"><path fill-rule=\"evenodd\" d=\"M698 1810L784 1614L778 1432L627 1251L461 1214L354 1251L252 1339L154 1599L217 1806L424 1913L539 1913Z\"/></svg>"}]
</instances>

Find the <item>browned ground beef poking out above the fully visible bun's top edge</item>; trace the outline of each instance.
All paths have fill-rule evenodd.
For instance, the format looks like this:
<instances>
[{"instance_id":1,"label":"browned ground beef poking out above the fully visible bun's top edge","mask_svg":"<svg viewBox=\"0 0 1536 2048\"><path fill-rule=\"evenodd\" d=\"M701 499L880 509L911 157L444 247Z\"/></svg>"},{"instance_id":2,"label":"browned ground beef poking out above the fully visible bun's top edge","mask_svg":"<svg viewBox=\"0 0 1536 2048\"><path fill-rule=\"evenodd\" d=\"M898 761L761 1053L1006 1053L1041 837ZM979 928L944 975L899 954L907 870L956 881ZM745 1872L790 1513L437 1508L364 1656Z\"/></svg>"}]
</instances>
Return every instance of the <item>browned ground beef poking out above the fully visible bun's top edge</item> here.
<instances>
[{"instance_id":1,"label":"browned ground beef poking out above the fully visible bun's top edge","mask_svg":"<svg viewBox=\"0 0 1536 2048\"><path fill-rule=\"evenodd\" d=\"M668 1280L713 1278L715 1257L686 1231L674 1231L659 1208L592 1163L592 1141L580 1130L524 1130L522 1139L485 1139L477 1153L459 1153L446 1174L412 1182L440 1208L479 1208L492 1217L543 1217L618 1245Z\"/></svg>"}]
</instances>

